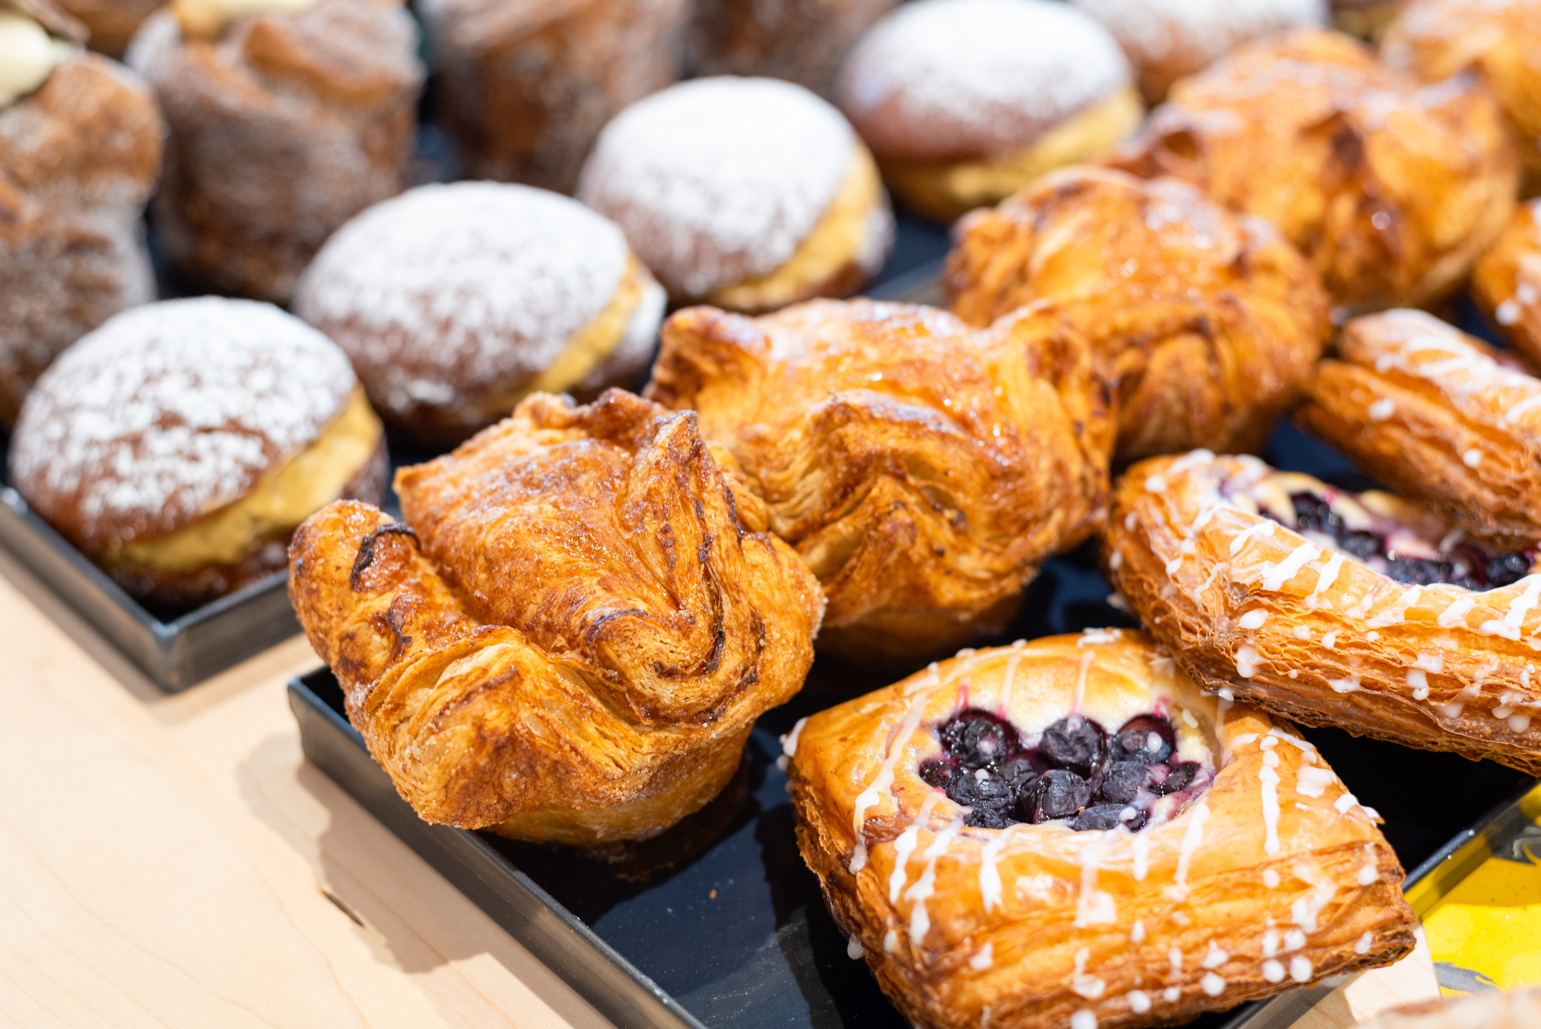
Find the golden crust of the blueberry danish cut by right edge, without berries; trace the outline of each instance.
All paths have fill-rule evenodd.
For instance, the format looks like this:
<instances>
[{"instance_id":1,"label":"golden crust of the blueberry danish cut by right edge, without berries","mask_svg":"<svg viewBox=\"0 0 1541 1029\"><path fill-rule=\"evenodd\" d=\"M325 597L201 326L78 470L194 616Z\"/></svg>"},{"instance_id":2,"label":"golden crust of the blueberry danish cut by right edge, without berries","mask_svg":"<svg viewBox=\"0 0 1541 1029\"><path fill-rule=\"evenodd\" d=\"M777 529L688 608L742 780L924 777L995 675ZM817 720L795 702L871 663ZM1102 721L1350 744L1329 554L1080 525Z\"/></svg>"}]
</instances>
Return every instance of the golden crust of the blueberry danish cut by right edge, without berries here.
<instances>
[{"instance_id":1,"label":"golden crust of the blueberry danish cut by right edge, without berries","mask_svg":"<svg viewBox=\"0 0 1541 1029\"><path fill-rule=\"evenodd\" d=\"M1193 551L1183 553L1205 498L1222 479L1256 474L1262 465L1214 458L1183 468L1177 461L1140 462L1119 481L1103 538L1103 568L1188 675L1308 726L1335 726L1473 761L1490 758L1541 775L1541 718L1513 729L1507 718L1490 713L1501 706L1526 715L1541 709L1541 682L1532 685L1526 672L1535 652L1523 638L1541 628L1541 610L1530 612L1516 639L1482 632L1509 615L1527 582L1470 595L1429 587L1399 619L1367 625L1395 612L1405 588L1355 561L1344 562L1333 585L1324 588L1321 596L1330 605L1308 601L1319 575L1314 562L1277 590L1264 587L1262 575L1305 541L1281 527L1233 555L1230 547L1241 531L1267 521L1261 514L1220 508L1191 536ZM1165 488L1150 490L1153 478ZM1167 571L1173 561L1176 568ZM1472 610L1441 624L1450 602L1462 596L1473 599ZM1361 605L1367 605L1364 616L1355 613ZM1265 612L1267 621L1244 630L1237 622L1253 610ZM1322 642L1328 633L1330 647ZM1438 672L1418 667L1424 653L1442 658ZM1251 669L1250 678L1239 673L1239 658ZM1410 672L1424 676L1427 698L1413 696ZM1355 689L1341 692L1333 682ZM1442 710L1458 699L1462 707L1455 715Z\"/></svg>"}]
</instances>

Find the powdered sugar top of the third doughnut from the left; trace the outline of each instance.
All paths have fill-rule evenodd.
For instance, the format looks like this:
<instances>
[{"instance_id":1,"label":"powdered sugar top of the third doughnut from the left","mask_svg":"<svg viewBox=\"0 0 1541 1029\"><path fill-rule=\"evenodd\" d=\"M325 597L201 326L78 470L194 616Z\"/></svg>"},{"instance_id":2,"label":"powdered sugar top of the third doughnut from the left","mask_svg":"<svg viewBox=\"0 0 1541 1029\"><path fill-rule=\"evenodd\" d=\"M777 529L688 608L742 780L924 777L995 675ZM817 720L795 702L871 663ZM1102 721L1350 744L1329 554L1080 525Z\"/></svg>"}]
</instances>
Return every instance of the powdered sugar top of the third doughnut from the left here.
<instances>
[{"instance_id":1,"label":"powdered sugar top of the third doughnut from the left","mask_svg":"<svg viewBox=\"0 0 1541 1029\"><path fill-rule=\"evenodd\" d=\"M612 120L578 197L613 217L676 294L703 296L784 263L828 209L855 134L807 89L697 79Z\"/></svg>"}]
</instances>

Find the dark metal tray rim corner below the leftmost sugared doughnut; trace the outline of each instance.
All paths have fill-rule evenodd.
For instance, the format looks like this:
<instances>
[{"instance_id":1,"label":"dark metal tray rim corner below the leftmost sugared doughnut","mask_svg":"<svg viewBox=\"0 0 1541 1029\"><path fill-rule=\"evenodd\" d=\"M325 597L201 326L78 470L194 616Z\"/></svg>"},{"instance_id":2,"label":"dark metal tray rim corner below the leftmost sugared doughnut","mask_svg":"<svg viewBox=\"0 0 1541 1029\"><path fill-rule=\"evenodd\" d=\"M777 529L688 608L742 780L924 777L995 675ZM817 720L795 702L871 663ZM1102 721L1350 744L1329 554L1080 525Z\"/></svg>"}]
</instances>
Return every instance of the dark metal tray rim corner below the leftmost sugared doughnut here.
<instances>
[{"instance_id":1,"label":"dark metal tray rim corner below the leftmost sugared doughnut","mask_svg":"<svg viewBox=\"0 0 1541 1029\"><path fill-rule=\"evenodd\" d=\"M0 545L171 693L299 632L287 571L274 571L174 621L160 621L32 513L11 487L0 487Z\"/></svg>"}]
</instances>

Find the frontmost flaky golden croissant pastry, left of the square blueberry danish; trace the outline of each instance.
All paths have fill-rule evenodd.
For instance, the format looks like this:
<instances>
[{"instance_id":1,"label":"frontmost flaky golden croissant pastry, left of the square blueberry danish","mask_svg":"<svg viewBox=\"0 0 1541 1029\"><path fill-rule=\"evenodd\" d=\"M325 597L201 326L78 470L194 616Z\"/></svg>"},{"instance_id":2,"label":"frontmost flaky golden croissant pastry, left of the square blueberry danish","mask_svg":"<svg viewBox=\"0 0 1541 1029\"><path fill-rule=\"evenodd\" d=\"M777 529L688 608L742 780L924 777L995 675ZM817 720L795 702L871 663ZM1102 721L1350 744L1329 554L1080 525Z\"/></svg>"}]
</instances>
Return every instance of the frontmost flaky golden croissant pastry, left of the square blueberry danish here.
<instances>
[{"instance_id":1,"label":"frontmost flaky golden croissant pastry, left of the square blueberry danish","mask_svg":"<svg viewBox=\"0 0 1541 1029\"><path fill-rule=\"evenodd\" d=\"M803 684L818 582L750 527L695 414L535 394L396 491L401 522L333 504L300 525L290 598L427 821L652 836Z\"/></svg>"}]
</instances>

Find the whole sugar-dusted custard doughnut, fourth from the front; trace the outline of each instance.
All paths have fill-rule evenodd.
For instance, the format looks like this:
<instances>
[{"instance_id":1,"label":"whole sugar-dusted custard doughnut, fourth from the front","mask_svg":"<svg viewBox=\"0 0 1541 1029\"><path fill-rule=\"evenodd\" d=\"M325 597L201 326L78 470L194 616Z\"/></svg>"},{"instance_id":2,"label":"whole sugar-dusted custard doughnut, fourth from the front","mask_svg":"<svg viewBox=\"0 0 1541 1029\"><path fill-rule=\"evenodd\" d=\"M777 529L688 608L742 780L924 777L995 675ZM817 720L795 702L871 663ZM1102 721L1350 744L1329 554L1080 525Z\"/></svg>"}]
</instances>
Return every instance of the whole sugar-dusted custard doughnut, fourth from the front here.
<instances>
[{"instance_id":1,"label":"whole sugar-dusted custard doughnut, fourth from the front","mask_svg":"<svg viewBox=\"0 0 1541 1029\"><path fill-rule=\"evenodd\" d=\"M1117 42L1051 0L917 0L851 51L840 108L915 211L952 220L1100 157L1143 106Z\"/></svg>"}]
</instances>

